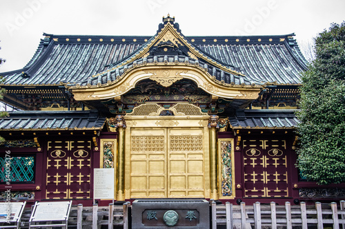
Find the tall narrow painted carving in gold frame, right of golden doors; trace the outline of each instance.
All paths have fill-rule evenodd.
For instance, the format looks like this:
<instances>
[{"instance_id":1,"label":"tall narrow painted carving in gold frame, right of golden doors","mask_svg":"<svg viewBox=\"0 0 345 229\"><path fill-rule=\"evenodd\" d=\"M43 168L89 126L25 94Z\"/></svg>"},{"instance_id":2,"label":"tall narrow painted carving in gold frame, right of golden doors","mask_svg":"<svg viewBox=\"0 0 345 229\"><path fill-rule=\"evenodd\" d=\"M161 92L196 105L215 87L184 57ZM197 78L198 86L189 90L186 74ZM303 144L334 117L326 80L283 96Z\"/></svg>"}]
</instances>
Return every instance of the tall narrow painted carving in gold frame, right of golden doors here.
<instances>
[{"instance_id":1,"label":"tall narrow painted carving in gold frame, right of golden doors","mask_svg":"<svg viewBox=\"0 0 345 229\"><path fill-rule=\"evenodd\" d=\"M221 195L233 195L231 143L226 141L221 142Z\"/></svg>"}]
</instances>

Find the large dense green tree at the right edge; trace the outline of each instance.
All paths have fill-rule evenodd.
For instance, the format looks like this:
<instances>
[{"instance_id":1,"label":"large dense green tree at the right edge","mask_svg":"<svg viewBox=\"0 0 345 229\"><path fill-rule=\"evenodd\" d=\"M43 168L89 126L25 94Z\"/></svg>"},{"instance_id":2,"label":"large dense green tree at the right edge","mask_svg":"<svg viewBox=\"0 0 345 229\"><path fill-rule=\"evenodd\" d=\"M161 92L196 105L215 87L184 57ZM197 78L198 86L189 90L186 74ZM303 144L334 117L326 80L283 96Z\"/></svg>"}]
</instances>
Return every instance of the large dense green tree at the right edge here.
<instances>
[{"instance_id":1,"label":"large dense green tree at the right edge","mask_svg":"<svg viewBox=\"0 0 345 229\"><path fill-rule=\"evenodd\" d=\"M302 74L297 167L317 184L345 182L345 21L315 38Z\"/></svg>"}]
</instances>

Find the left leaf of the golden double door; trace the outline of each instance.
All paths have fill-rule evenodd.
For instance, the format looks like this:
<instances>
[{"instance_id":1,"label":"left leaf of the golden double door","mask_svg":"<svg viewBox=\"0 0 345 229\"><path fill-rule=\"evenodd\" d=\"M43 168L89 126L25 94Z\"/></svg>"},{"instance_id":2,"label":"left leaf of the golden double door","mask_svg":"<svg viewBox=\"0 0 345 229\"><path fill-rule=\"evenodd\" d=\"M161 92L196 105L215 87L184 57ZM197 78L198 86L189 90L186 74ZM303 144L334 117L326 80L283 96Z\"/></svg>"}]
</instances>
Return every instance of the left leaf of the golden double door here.
<instances>
[{"instance_id":1,"label":"left leaf of the golden double door","mask_svg":"<svg viewBox=\"0 0 345 229\"><path fill-rule=\"evenodd\" d=\"M166 129L132 129L131 198L166 197Z\"/></svg>"}]
</instances>

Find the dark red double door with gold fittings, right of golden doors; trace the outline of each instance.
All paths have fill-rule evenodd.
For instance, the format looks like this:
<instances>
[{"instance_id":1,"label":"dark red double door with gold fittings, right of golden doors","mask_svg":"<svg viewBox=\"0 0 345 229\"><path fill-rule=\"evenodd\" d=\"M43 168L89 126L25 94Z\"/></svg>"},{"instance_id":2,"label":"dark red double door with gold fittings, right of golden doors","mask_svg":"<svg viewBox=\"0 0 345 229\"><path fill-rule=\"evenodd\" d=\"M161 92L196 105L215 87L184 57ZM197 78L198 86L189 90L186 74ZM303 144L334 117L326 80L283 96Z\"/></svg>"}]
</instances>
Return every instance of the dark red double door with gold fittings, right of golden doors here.
<instances>
[{"instance_id":1,"label":"dark red double door with gold fittings, right of golden doors","mask_svg":"<svg viewBox=\"0 0 345 229\"><path fill-rule=\"evenodd\" d=\"M244 196L288 197L285 140L244 140Z\"/></svg>"}]
</instances>

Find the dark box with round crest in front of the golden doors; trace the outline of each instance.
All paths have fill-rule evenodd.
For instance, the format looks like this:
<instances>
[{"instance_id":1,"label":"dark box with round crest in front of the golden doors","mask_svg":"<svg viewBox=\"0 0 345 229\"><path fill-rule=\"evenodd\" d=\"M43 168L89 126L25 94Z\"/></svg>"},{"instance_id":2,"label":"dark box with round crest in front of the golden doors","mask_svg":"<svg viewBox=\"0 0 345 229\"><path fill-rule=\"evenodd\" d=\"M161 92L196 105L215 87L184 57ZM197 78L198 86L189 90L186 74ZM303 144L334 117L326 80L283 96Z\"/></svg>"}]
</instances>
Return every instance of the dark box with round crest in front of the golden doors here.
<instances>
[{"instance_id":1,"label":"dark box with round crest in front of the golden doors","mask_svg":"<svg viewBox=\"0 0 345 229\"><path fill-rule=\"evenodd\" d=\"M132 203L133 228L210 228L204 199L137 199Z\"/></svg>"}]
</instances>

